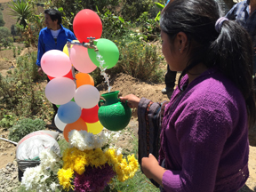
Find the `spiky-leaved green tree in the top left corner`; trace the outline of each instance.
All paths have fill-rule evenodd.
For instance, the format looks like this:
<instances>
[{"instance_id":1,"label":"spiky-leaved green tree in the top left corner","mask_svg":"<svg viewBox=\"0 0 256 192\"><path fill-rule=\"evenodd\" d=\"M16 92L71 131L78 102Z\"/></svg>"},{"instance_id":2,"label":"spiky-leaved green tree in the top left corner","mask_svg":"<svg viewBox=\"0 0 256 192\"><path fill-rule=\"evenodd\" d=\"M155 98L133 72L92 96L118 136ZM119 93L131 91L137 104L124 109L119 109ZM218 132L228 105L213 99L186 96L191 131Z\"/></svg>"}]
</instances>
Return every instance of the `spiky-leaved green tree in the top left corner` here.
<instances>
[{"instance_id":1,"label":"spiky-leaved green tree in the top left corner","mask_svg":"<svg viewBox=\"0 0 256 192\"><path fill-rule=\"evenodd\" d=\"M26 28L28 22L27 20L32 15L32 5L26 3L24 0L17 0L16 2L12 1L12 5L9 5L11 8L10 15L17 18L17 22L20 21L20 25Z\"/></svg>"}]
</instances>

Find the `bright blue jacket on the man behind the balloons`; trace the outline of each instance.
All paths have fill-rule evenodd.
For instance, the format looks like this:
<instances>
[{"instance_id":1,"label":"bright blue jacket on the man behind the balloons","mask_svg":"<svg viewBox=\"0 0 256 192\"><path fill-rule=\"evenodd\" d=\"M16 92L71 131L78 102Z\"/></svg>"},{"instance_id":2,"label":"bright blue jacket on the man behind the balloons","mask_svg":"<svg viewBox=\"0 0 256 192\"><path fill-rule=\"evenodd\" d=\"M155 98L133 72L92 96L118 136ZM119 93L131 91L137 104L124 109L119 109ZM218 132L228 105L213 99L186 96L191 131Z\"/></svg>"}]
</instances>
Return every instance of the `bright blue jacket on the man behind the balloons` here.
<instances>
[{"instance_id":1,"label":"bright blue jacket on the man behind the balloons","mask_svg":"<svg viewBox=\"0 0 256 192\"><path fill-rule=\"evenodd\" d=\"M63 47L65 46L65 44L67 44L68 39L76 40L76 36L68 28L63 28L61 24L60 24L60 33L57 37L56 43L52 36L51 29L42 28L38 38L38 51L37 51L36 65L39 67L41 66L40 61L44 52L47 52L53 49L63 51Z\"/></svg>"}]
</instances>

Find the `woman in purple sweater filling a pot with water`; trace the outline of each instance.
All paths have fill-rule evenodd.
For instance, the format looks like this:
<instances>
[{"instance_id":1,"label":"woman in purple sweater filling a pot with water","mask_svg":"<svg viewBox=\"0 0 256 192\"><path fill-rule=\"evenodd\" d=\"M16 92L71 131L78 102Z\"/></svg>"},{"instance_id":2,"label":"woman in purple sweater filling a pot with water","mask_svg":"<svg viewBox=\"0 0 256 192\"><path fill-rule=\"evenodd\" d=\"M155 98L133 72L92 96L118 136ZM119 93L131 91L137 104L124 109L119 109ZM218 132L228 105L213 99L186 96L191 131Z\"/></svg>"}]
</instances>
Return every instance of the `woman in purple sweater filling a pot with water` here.
<instances>
[{"instance_id":1,"label":"woman in purple sweater filling a pot with water","mask_svg":"<svg viewBox=\"0 0 256 192\"><path fill-rule=\"evenodd\" d=\"M162 191L237 191L249 175L247 134L255 124L251 39L220 18L214 0L171 1L160 27L165 60L182 73L164 110L158 162L144 156L142 171ZM132 94L120 99L138 116L160 105Z\"/></svg>"}]
</instances>

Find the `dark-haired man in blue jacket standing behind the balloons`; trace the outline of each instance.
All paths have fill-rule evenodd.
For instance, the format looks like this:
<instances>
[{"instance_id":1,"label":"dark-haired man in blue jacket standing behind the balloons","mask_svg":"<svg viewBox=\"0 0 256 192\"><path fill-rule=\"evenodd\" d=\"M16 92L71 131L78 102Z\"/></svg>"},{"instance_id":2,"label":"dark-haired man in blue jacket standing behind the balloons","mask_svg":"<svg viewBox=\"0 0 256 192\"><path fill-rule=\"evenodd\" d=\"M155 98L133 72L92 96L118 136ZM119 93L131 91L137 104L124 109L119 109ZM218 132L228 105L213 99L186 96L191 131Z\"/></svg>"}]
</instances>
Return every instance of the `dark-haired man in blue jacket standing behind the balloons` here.
<instances>
[{"instance_id":1,"label":"dark-haired man in blue jacket standing behind the balloons","mask_svg":"<svg viewBox=\"0 0 256 192\"><path fill-rule=\"evenodd\" d=\"M61 14L58 10L47 9L44 11L44 22L46 28L41 29L38 38L38 52L36 65L40 76L44 75L41 68L41 58L44 52L50 50L63 50L67 39L76 40L76 36L68 28L63 28L61 25Z\"/></svg>"}]
</instances>

